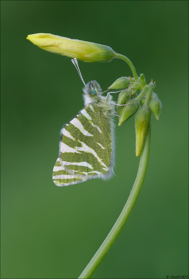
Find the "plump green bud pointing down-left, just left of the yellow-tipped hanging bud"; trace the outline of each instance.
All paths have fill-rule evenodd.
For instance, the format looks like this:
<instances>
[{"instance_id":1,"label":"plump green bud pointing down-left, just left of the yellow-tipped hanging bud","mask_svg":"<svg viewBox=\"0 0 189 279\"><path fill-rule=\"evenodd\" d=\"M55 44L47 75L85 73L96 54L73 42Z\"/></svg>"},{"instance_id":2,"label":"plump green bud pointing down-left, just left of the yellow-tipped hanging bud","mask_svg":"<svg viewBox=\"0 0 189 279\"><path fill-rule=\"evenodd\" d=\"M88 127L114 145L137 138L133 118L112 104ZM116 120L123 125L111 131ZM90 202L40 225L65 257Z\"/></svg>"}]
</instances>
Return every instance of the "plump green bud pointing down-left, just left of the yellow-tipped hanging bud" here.
<instances>
[{"instance_id":1,"label":"plump green bud pointing down-left, just left of the yellow-tipped hanging bud","mask_svg":"<svg viewBox=\"0 0 189 279\"><path fill-rule=\"evenodd\" d=\"M118 126L121 126L124 122L126 122L139 108L139 103L136 99L128 100L126 105L122 110L121 117L119 118Z\"/></svg>"}]
</instances>

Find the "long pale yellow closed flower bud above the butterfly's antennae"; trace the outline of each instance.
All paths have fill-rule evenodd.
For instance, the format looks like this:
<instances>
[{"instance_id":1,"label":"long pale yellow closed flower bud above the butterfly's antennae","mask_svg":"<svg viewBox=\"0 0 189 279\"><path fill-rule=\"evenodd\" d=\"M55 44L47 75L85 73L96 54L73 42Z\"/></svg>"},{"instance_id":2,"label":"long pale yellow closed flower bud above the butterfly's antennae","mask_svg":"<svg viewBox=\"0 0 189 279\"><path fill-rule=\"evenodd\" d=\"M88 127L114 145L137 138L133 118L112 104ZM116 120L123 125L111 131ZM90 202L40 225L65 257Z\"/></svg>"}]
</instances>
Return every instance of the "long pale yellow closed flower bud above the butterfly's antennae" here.
<instances>
[{"instance_id":1,"label":"long pale yellow closed flower bud above the butterfly's antennae","mask_svg":"<svg viewBox=\"0 0 189 279\"><path fill-rule=\"evenodd\" d=\"M27 39L34 45L53 53L58 53L85 62L108 62L114 58L111 47L69 39L48 33L28 35Z\"/></svg>"}]
</instances>

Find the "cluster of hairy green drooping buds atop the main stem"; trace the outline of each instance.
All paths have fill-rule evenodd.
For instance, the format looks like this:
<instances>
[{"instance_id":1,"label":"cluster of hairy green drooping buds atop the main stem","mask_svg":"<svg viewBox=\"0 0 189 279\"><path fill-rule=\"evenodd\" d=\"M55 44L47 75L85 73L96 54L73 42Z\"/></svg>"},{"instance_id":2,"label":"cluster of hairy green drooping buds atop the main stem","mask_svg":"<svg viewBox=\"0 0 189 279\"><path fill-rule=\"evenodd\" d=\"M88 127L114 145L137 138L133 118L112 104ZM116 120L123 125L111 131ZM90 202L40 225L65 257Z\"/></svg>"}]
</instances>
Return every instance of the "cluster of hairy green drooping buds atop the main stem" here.
<instances>
[{"instance_id":1,"label":"cluster of hairy green drooping buds atop the main stem","mask_svg":"<svg viewBox=\"0 0 189 279\"><path fill-rule=\"evenodd\" d=\"M129 83L130 79L130 83ZM117 107L119 115L118 126L121 126L134 114L136 132L136 156L140 156L146 135L151 123L151 112L159 120L161 102L152 91L155 83L144 85L145 79L142 74L137 82L133 78L118 78L109 89L122 90L118 97ZM136 95L136 91L141 92Z\"/></svg>"}]
</instances>

